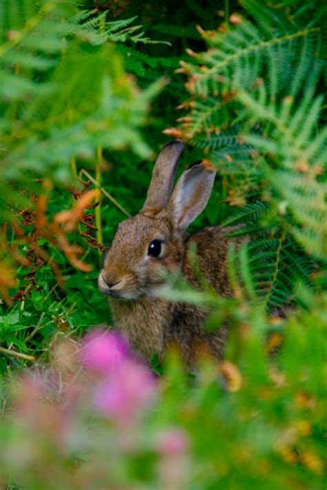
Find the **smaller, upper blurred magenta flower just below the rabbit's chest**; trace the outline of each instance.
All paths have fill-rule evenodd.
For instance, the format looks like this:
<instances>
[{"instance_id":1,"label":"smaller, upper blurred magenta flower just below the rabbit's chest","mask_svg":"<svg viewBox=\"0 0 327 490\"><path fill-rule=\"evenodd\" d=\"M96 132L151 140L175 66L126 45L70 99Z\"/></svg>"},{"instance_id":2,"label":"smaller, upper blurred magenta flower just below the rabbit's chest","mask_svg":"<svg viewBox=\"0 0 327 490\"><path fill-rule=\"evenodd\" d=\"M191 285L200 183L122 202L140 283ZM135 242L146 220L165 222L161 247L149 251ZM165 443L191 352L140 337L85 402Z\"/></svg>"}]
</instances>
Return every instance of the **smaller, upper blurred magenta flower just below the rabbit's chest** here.
<instances>
[{"instance_id":1,"label":"smaller, upper blurred magenta flower just below the rabbit's chest","mask_svg":"<svg viewBox=\"0 0 327 490\"><path fill-rule=\"evenodd\" d=\"M128 358L128 345L118 331L94 330L84 339L81 360L86 367L108 374Z\"/></svg>"}]
</instances>

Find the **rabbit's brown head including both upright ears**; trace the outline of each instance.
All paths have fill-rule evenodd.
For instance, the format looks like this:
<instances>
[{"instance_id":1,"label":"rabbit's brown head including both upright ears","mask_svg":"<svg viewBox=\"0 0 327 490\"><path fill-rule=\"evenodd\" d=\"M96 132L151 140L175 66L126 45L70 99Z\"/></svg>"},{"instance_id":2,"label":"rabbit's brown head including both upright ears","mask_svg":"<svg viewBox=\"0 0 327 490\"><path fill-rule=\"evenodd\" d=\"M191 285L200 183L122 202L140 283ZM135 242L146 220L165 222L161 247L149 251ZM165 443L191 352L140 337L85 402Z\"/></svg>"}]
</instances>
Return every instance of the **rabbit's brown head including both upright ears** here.
<instances>
[{"instance_id":1,"label":"rabbit's brown head including both upright ears","mask_svg":"<svg viewBox=\"0 0 327 490\"><path fill-rule=\"evenodd\" d=\"M142 210L117 228L99 275L101 292L127 299L152 296L164 282L160 269L181 269L186 228L204 210L215 179L211 168L195 163L172 192L183 149L176 140L161 150Z\"/></svg>"}]
</instances>

